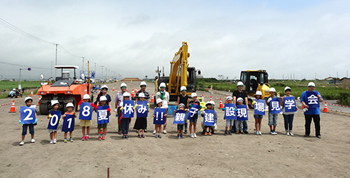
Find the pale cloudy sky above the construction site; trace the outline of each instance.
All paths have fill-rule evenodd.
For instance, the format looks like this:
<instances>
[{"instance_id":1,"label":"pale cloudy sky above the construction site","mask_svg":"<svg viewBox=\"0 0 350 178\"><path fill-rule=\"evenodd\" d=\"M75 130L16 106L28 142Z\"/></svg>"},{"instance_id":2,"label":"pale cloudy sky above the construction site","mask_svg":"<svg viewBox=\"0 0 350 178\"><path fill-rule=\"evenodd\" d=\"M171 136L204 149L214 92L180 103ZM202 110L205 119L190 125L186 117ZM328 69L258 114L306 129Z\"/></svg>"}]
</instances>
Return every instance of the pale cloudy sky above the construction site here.
<instances>
[{"instance_id":1,"label":"pale cloudy sky above the construction site","mask_svg":"<svg viewBox=\"0 0 350 178\"><path fill-rule=\"evenodd\" d=\"M350 1L0 1L0 75L50 77L55 64L90 60L123 76L154 77L182 41L204 77L345 77L350 66ZM3 21L5 20L5 22ZM41 40L23 36L6 22ZM63 48L61 48L63 47ZM64 51L67 50L69 52ZM21 66L13 66L17 64ZM37 68L36 68L37 67ZM85 67L86 69L86 67ZM55 75L55 72L53 72ZM105 75L105 68L104 68Z\"/></svg>"}]
</instances>

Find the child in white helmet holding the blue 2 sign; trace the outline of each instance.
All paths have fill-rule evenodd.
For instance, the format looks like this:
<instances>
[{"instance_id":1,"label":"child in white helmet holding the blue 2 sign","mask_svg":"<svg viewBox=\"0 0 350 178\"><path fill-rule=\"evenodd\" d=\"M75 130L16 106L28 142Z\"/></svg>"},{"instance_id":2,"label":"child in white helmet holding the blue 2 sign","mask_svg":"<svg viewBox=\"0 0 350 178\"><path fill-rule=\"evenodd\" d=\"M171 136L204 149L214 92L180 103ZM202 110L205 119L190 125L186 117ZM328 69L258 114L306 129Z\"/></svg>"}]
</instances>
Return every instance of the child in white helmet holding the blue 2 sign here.
<instances>
[{"instance_id":1,"label":"child in white helmet holding the blue 2 sign","mask_svg":"<svg viewBox=\"0 0 350 178\"><path fill-rule=\"evenodd\" d=\"M26 105L25 106L25 110L24 110L25 112L27 112L26 110L28 110L28 109L30 110L29 112L32 112L32 109L29 108L29 107L31 107L31 103L32 102L33 102L33 99L31 97L25 98L25 105ZM35 111L35 108L34 108L34 111ZM21 114L22 114L22 112L21 112ZM23 114L25 114L25 113L23 113ZM30 115L27 116L27 117L30 117ZM26 120L26 118L25 119L21 119L21 120ZM22 123L22 121L20 120L20 124L23 124L22 125L22 142L20 142L20 146L25 144L25 135L27 135L28 127L29 127L29 133L31 135L30 142L32 142L32 143L35 142L35 140L34 140L34 126L36 125L36 121L38 120L38 119L36 119L36 112L35 112L35 118L31 118L31 119L34 119L34 123L33 124L25 124L25 123Z\"/></svg>"}]
</instances>

